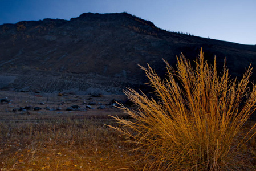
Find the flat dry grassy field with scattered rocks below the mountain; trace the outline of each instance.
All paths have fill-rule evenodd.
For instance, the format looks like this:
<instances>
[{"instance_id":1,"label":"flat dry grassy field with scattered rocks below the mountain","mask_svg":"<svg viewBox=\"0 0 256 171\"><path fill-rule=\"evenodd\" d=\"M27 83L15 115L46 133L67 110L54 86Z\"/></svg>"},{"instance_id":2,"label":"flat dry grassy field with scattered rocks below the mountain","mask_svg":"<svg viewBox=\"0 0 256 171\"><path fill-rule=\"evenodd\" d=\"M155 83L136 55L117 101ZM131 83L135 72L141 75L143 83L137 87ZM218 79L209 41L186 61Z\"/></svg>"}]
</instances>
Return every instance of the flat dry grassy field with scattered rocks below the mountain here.
<instances>
[{"instance_id":1,"label":"flat dry grassy field with scattered rocks below the mountain","mask_svg":"<svg viewBox=\"0 0 256 171\"><path fill-rule=\"evenodd\" d=\"M133 146L105 125L119 126L109 115L126 117L110 104L125 96L1 91L0 98L6 97L0 104L1 170L140 170L131 162ZM80 109L66 111L72 105ZM243 131L254 123L247 122ZM247 147L245 156L256 165L255 137Z\"/></svg>"}]
</instances>

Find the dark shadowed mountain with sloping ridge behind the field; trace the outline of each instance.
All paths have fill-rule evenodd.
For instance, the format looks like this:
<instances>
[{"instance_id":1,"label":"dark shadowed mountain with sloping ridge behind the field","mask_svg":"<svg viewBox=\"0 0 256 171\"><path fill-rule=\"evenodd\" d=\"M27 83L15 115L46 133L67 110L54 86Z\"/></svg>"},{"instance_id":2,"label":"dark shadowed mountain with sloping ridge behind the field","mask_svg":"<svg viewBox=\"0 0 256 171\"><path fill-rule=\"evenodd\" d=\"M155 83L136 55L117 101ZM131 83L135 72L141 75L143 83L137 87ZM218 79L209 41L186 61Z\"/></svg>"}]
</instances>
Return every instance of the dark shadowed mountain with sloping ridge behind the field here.
<instances>
[{"instance_id":1,"label":"dark shadowed mountain with sloping ridge behind the field","mask_svg":"<svg viewBox=\"0 0 256 171\"><path fill-rule=\"evenodd\" d=\"M201 47L210 62L216 55L219 71L226 57L233 77L240 78L250 63L256 66L256 45L169 32L127 13L5 24L0 26L0 89L77 93L143 89L147 78L137 64L149 63L164 76L162 58L174 66L176 55L182 52L194 60Z\"/></svg>"}]
</instances>

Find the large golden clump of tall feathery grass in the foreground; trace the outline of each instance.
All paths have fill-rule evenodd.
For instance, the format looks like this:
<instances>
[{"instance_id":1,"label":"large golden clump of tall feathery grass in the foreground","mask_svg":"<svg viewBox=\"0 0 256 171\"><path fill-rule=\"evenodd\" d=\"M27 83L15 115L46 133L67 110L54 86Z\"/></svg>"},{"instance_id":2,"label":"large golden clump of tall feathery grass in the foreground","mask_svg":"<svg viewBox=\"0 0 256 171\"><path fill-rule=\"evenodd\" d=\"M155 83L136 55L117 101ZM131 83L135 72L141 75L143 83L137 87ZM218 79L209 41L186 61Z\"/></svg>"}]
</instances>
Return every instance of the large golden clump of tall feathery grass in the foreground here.
<instances>
[{"instance_id":1,"label":"large golden clump of tall feathery grass in the foreground","mask_svg":"<svg viewBox=\"0 0 256 171\"><path fill-rule=\"evenodd\" d=\"M230 79L225 64L219 75L216 60L208 64L202 50L194 68L182 54L177 70L165 63L164 80L149 65L141 67L157 100L128 88L124 92L137 108L120 108L132 120L114 117L123 127L112 128L141 151L143 170L253 169L242 151L255 134L255 125L242 139L238 137L255 111L256 86L249 87L252 67L241 81Z\"/></svg>"}]
</instances>

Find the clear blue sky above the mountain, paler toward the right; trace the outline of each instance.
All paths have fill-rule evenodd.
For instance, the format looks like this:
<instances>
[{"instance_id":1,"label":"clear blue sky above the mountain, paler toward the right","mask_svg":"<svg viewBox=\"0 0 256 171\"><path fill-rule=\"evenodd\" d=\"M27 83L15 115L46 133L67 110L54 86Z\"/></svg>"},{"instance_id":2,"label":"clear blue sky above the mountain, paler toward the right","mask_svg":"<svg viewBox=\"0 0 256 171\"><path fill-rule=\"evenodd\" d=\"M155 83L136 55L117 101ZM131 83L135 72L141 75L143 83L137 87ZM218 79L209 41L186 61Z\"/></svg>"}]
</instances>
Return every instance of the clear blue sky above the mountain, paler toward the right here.
<instances>
[{"instance_id":1,"label":"clear blue sky above the mountain, paler toward the right","mask_svg":"<svg viewBox=\"0 0 256 171\"><path fill-rule=\"evenodd\" d=\"M166 30L256 44L256 0L0 0L0 25L124 11Z\"/></svg>"}]
</instances>

